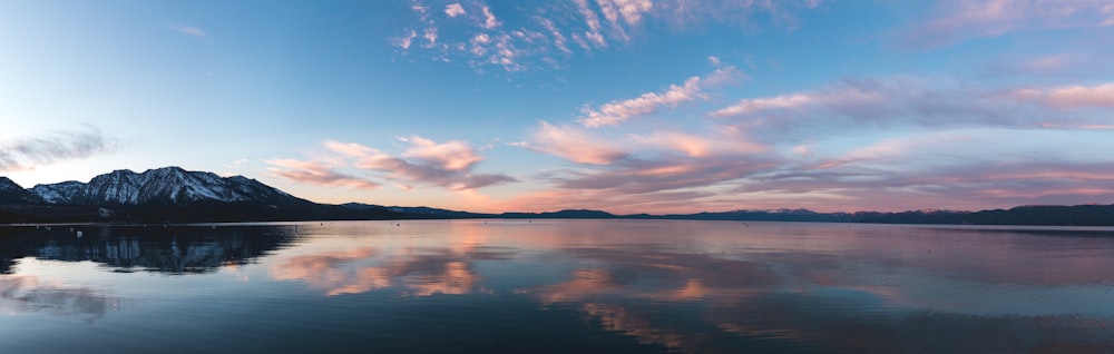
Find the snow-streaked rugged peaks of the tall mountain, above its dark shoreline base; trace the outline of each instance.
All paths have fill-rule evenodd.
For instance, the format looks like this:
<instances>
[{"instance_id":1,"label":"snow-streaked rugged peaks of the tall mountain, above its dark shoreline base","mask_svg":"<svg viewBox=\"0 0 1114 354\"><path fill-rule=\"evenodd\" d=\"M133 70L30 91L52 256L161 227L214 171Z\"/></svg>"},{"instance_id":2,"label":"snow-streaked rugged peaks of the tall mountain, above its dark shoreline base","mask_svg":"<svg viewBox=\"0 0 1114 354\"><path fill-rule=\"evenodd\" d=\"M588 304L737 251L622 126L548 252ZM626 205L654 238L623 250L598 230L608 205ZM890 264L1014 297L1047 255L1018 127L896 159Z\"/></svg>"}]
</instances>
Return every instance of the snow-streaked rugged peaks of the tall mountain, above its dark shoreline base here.
<instances>
[{"instance_id":1,"label":"snow-streaked rugged peaks of the tall mountain, above its dark shoreline base","mask_svg":"<svg viewBox=\"0 0 1114 354\"><path fill-rule=\"evenodd\" d=\"M272 205L307 204L257 180L242 176L187 171L179 167L148 169L141 174L118 169L89 183L38 185L30 191L49 204L67 205L190 205L253 201Z\"/></svg>"}]
</instances>

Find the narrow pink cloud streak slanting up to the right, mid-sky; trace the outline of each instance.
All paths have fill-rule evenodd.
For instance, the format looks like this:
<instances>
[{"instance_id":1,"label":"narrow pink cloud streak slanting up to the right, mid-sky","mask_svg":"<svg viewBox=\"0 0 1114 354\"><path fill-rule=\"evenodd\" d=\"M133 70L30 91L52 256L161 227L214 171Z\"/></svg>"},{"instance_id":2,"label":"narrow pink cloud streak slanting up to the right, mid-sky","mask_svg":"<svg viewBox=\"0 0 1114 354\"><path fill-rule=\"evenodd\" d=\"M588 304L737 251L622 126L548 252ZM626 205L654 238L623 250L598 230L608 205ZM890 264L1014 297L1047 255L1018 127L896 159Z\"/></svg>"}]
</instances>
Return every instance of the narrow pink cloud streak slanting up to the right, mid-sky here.
<instances>
[{"instance_id":1,"label":"narrow pink cloud streak slanting up to the right, mid-sky","mask_svg":"<svg viewBox=\"0 0 1114 354\"><path fill-rule=\"evenodd\" d=\"M631 118L653 114L661 107L675 108L681 104L704 98L704 86L716 85L741 76L734 67L719 69L706 78L691 77L684 83L671 85L662 92L646 92L632 99L604 104L599 108L585 108L578 122L588 128L617 126Z\"/></svg>"}]
</instances>

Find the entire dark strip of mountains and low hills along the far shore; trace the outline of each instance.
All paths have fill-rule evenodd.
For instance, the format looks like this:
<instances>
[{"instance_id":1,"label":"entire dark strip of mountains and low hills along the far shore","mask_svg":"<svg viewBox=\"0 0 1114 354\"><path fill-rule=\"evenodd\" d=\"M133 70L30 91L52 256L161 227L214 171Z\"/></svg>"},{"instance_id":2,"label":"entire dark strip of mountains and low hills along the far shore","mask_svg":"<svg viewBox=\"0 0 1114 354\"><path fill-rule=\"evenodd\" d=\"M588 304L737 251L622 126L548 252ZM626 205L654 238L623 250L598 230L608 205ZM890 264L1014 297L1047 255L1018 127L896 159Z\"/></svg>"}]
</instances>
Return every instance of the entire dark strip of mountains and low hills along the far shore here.
<instances>
[{"instance_id":1,"label":"entire dark strip of mountains and low hills along the far shore","mask_svg":"<svg viewBox=\"0 0 1114 354\"><path fill-rule=\"evenodd\" d=\"M89 183L63 181L23 189L0 177L0 223L182 223L367 219L690 219L881 224L1114 226L1114 205L1019 206L981 212L817 213L808 209L615 215L602 210L483 214L430 207L317 204L243 176L221 177L179 167L115 170Z\"/></svg>"}]
</instances>

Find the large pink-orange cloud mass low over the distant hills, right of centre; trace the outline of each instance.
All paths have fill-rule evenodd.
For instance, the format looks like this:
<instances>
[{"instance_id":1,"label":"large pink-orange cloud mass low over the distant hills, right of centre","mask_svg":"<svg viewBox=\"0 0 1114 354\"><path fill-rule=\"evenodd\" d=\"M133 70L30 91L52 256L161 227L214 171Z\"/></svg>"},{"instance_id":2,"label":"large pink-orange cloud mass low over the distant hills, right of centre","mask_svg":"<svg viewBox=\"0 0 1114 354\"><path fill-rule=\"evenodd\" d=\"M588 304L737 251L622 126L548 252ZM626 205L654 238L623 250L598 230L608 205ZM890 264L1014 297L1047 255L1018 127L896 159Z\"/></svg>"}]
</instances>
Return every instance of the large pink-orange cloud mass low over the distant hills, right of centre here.
<instances>
[{"instance_id":1,"label":"large pink-orange cloud mass low over the distant hills, right of centre","mask_svg":"<svg viewBox=\"0 0 1114 354\"><path fill-rule=\"evenodd\" d=\"M724 184L775 166L771 148L731 130L653 130L608 136L543 121L516 146L579 165L544 171L549 187L507 201L507 209L606 207L639 212L690 208Z\"/></svg>"}]
</instances>

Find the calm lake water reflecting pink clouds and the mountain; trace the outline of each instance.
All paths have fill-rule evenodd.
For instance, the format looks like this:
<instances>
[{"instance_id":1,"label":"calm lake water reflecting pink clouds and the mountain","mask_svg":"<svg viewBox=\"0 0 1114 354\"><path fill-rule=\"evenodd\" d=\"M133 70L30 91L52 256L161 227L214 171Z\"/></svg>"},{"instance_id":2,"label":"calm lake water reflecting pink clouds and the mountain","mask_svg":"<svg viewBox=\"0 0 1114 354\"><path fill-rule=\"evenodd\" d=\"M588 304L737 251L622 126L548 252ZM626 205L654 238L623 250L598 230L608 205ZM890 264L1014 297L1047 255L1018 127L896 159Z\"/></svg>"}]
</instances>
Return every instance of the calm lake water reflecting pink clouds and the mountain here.
<instances>
[{"instance_id":1,"label":"calm lake water reflecting pink clouds and the mountain","mask_svg":"<svg viewBox=\"0 0 1114 354\"><path fill-rule=\"evenodd\" d=\"M1114 229L0 227L0 353L125 352L1114 352Z\"/></svg>"}]
</instances>

